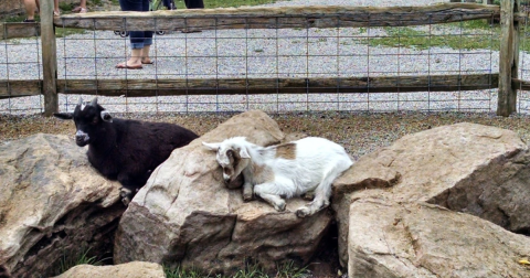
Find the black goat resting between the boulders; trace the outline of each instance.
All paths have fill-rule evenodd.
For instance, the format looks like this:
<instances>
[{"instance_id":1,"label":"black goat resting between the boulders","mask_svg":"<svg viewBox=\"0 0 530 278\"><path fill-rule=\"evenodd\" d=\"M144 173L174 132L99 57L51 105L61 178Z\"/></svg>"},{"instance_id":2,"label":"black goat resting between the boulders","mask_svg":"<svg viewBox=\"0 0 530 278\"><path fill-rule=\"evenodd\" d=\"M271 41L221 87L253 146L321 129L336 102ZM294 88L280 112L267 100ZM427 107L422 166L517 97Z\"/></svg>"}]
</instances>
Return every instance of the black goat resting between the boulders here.
<instances>
[{"instance_id":1,"label":"black goat resting between the boulders","mask_svg":"<svg viewBox=\"0 0 530 278\"><path fill-rule=\"evenodd\" d=\"M169 158L176 148L187 146L198 136L178 125L113 118L97 104L97 97L74 113L56 113L60 119L74 119L75 142L88 145L88 161L109 180L118 180L121 197L128 204L146 184L151 172Z\"/></svg>"}]
</instances>

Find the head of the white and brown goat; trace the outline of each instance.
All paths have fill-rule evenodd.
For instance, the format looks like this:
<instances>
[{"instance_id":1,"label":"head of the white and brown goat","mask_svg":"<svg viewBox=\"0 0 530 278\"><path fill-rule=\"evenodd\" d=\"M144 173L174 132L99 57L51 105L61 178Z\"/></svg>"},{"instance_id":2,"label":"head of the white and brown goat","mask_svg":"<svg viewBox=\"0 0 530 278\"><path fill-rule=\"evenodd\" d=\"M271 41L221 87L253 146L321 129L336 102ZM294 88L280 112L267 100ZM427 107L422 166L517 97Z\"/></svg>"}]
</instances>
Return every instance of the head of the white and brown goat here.
<instances>
[{"instance_id":1,"label":"head of the white and brown goat","mask_svg":"<svg viewBox=\"0 0 530 278\"><path fill-rule=\"evenodd\" d=\"M223 169L223 180L226 184L233 182L250 163L248 151L244 145L237 142L245 138L235 137L218 143L202 142L206 149L216 151L215 158Z\"/></svg>"}]
</instances>

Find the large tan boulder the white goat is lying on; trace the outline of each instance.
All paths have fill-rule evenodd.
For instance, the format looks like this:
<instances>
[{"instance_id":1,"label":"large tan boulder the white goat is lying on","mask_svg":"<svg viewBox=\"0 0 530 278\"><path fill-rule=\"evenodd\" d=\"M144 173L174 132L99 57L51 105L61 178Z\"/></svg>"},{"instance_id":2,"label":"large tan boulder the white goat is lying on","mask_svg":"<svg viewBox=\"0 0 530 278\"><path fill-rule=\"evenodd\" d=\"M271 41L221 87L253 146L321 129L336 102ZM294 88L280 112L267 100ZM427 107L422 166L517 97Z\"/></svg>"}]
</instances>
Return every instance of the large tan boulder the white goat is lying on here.
<instances>
[{"instance_id":1,"label":"large tan boulder the white goat is lying on","mask_svg":"<svg viewBox=\"0 0 530 278\"><path fill-rule=\"evenodd\" d=\"M245 260L265 268L309 261L332 217L322 211L298 218L294 212L307 202L300 199L289 200L285 212L264 201L244 203L241 189L223 185L215 153L202 146L234 136L262 146L284 138L266 114L248 111L174 150L125 212L116 263L146 260L226 274L242 269Z\"/></svg>"}]
</instances>

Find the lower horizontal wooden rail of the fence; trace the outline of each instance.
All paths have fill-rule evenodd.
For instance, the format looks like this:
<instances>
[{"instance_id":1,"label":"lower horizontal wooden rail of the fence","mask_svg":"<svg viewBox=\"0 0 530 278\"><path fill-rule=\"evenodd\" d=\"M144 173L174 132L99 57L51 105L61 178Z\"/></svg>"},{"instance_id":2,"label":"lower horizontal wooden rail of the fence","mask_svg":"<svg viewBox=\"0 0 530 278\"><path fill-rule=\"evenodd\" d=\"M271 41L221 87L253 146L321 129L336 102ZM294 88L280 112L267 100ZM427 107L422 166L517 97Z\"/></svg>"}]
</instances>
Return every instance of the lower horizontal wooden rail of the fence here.
<instances>
[{"instance_id":1,"label":"lower horizontal wooden rail of the fence","mask_svg":"<svg viewBox=\"0 0 530 278\"><path fill-rule=\"evenodd\" d=\"M57 92L103 96L405 93L489 89L497 74L348 78L57 79ZM0 81L0 98L39 95L39 81Z\"/></svg>"}]
</instances>

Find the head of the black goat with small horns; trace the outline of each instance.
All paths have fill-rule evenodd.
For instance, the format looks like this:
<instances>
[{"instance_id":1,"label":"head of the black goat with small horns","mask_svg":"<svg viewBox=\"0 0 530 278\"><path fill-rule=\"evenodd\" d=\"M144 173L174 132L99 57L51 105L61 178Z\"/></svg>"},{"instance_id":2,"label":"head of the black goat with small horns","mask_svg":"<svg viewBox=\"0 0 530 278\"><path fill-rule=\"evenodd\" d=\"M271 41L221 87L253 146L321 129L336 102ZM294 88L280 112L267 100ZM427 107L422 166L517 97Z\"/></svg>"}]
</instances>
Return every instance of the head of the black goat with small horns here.
<instances>
[{"instance_id":1,"label":"head of the black goat with small horns","mask_svg":"<svg viewBox=\"0 0 530 278\"><path fill-rule=\"evenodd\" d=\"M105 127L104 122L113 122L113 116L97 104L95 97L89 104L84 104L80 97L80 103L75 106L74 113L55 113L60 119L73 119L77 131L75 132L75 143L84 147L95 140L97 133L100 133Z\"/></svg>"}]
</instances>

